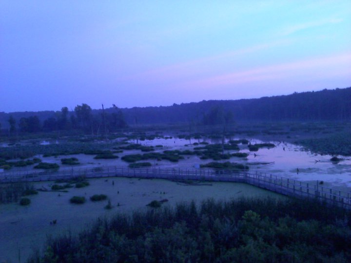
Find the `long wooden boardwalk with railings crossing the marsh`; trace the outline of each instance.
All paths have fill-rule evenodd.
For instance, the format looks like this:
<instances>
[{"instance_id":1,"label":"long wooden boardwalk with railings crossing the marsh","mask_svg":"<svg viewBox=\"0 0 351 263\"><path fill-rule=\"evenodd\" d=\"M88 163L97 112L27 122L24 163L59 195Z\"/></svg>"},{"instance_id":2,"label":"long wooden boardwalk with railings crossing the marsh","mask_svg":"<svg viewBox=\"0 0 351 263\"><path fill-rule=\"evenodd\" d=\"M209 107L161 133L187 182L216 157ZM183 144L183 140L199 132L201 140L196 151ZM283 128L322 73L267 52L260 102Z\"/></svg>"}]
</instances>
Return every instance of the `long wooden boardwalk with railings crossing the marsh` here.
<instances>
[{"instance_id":1,"label":"long wooden boardwalk with railings crossing the marsh","mask_svg":"<svg viewBox=\"0 0 351 263\"><path fill-rule=\"evenodd\" d=\"M230 169L129 169L113 166L85 169L2 172L0 173L0 183L53 181L71 179L78 176L86 178L120 176L169 180L241 182L288 196L316 198L320 201L351 209L351 192L327 188L318 181L312 184L272 174L260 172L249 173Z\"/></svg>"}]
</instances>

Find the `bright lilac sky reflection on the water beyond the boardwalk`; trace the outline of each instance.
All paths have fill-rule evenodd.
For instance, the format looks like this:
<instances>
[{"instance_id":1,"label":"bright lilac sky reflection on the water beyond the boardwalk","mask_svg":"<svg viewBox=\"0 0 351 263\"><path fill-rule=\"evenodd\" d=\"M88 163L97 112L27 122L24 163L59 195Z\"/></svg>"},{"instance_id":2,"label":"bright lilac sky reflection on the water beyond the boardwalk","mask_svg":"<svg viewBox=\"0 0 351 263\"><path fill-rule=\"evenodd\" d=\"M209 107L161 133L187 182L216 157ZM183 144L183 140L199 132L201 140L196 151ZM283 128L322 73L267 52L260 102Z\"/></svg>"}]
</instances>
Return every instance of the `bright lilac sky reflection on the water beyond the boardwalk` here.
<instances>
[{"instance_id":1,"label":"bright lilac sky reflection on the water beyond the boardwalk","mask_svg":"<svg viewBox=\"0 0 351 263\"><path fill-rule=\"evenodd\" d=\"M240 138L232 138L238 140ZM197 140L192 139L191 142L207 141L209 143L221 143L221 139L207 139ZM228 142L228 139L226 140ZM251 139L251 144L262 143L261 140ZM292 177L298 180L323 180L326 182L333 182L335 184L347 183L351 186L351 157L346 156L343 161L338 164L331 163L331 155L320 155L311 153L310 151L303 150L302 147L296 146L286 142L271 141L276 147L267 149L261 148L256 152L248 150L247 145L239 144L241 152L249 153L247 159L233 157L230 159L231 162L237 163L270 163L270 164L255 164L250 165L251 171L260 171L268 174L275 174L284 177ZM184 147L185 144L189 144L189 140L185 139L155 139L139 141L140 144L145 146L156 146L163 145L163 149L157 150L192 150L194 145ZM203 145L198 145L203 146ZM230 150L228 152L237 152ZM254 155L256 154L256 156ZM189 158L188 158L189 157ZM179 163L174 164L161 164L158 165L163 167L174 167L174 168L192 168L194 164L204 164L213 160L200 160L197 156L185 156L185 160L180 160ZM226 162L228 160L223 160ZM297 173L297 169L299 172Z\"/></svg>"}]
</instances>

